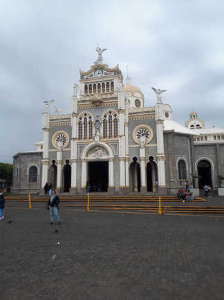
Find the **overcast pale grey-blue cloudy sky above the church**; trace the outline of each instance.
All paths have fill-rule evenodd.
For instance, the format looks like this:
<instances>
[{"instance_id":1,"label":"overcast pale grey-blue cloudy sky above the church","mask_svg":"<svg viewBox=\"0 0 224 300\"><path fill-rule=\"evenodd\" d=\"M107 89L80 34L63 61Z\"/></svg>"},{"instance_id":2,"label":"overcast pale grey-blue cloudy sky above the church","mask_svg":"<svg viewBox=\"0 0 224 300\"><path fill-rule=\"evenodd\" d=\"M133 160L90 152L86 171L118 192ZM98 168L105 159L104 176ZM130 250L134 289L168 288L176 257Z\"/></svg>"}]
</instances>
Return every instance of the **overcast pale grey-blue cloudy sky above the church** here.
<instances>
[{"instance_id":1,"label":"overcast pale grey-blue cloudy sky above the church","mask_svg":"<svg viewBox=\"0 0 224 300\"><path fill-rule=\"evenodd\" d=\"M42 140L41 100L71 109L73 83L96 44L152 106L151 86L184 124L191 111L223 127L224 3L219 0L1 0L0 162ZM51 108L53 113L53 108Z\"/></svg>"}]
</instances>

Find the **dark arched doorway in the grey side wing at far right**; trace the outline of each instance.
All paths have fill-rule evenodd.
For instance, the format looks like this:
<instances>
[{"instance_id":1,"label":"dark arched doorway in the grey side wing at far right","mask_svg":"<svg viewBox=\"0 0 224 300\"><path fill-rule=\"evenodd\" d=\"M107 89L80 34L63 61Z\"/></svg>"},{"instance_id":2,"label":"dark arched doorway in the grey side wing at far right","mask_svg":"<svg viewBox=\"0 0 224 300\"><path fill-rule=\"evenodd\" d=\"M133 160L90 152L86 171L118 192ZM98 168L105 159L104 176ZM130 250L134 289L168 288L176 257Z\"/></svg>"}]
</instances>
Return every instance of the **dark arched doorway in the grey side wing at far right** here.
<instances>
[{"instance_id":1,"label":"dark arched doorway in the grey side wing at far right","mask_svg":"<svg viewBox=\"0 0 224 300\"><path fill-rule=\"evenodd\" d=\"M198 187L203 189L204 185L212 187L212 167L208 160L198 162Z\"/></svg>"}]
</instances>

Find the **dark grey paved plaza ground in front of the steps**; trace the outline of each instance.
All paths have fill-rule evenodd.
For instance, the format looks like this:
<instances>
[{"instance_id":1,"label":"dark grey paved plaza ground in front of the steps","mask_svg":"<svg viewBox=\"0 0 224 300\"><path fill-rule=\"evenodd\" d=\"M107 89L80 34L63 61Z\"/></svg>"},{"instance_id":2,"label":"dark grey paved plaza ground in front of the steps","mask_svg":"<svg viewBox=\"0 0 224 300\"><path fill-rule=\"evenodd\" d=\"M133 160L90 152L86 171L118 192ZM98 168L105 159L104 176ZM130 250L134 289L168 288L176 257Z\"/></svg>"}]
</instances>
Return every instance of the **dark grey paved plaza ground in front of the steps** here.
<instances>
[{"instance_id":1,"label":"dark grey paved plaza ground in front of the steps","mask_svg":"<svg viewBox=\"0 0 224 300\"><path fill-rule=\"evenodd\" d=\"M60 215L6 209L1 300L224 299L222 216Z\"/></svg>"}]
</instances>

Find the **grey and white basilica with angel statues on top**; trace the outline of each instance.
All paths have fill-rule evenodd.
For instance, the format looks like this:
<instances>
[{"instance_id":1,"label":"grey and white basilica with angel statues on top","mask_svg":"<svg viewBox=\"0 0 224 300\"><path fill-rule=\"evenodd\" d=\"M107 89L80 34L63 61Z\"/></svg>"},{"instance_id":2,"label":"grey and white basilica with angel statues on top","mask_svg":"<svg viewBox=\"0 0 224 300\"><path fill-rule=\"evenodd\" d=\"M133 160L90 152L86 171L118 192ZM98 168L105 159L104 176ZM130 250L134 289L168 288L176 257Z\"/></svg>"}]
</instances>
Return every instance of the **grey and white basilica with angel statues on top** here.
<instances>
[{"instance_id":1,"label":"grey and white basilica with angel statues on top","mask_svg":"<svg viewBox=\"0 0 224 300\"><path fill-rule=\"evenodd\" d=\"M97 59L80 71L69 114L50 115L45 101L43 141L35 151L13 156L12 192L58 194L176 194L188 180L194 194L205 184L224 192L224 129L206 129L192 112L185 126L173 120L165 90L153 88L155 102L144 106L140 88L126 82L118 65Z\"/></svg>"}]
</instances>

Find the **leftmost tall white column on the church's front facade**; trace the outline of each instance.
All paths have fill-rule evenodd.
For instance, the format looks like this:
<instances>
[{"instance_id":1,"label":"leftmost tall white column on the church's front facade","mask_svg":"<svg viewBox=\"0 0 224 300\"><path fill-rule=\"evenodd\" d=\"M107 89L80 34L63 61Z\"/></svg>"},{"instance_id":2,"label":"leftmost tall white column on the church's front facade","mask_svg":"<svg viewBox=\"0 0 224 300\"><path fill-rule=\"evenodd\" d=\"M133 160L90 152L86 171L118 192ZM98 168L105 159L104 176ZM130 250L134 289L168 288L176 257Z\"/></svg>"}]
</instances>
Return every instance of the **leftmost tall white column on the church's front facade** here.
<instances>
[{"instance_id":1,"label":"leftmost tall white column on the church's front facade","mask_svg":"<svg viewBox=\"0 0 224 300\"><path fill-rule=\"evenodd\" d=\"M49 165L49 131L50 131L50 116L48 112L43 113L43 131L44 131L44 145L43 145L43 159L42 165L42 189L46 182L48 182L48 165ZM43 190L42 190L43 191ZM44 191L43 191L44 193Z\"/></svg>"}]
</instances>

